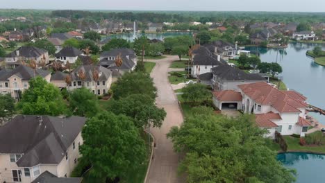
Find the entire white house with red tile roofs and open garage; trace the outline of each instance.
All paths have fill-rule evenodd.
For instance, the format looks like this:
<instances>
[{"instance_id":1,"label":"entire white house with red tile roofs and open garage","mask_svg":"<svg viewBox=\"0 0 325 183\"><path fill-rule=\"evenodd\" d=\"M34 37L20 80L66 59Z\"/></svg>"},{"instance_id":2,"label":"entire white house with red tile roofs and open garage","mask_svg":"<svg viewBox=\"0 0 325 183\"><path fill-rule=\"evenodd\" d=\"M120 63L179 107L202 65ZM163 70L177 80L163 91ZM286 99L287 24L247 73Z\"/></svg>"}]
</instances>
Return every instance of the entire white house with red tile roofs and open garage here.
<instances>
[{"instance_id":1,"label":"entire white house with red tile roofs and open garage","mask_svg":"<svg viewBox=\"0 0 325 183\"><path fill-rule=\"evenodd\" d=\"M238 91L225 90L213 93L213 103L220 110L235 106L247 114L255 114L256 125L283 135L305 135L311 125L306 120L306 97L294 91L281 91L266 82L239 85ZM233 107L231 106L231 107Z\"/></svg>"}]
</instances>

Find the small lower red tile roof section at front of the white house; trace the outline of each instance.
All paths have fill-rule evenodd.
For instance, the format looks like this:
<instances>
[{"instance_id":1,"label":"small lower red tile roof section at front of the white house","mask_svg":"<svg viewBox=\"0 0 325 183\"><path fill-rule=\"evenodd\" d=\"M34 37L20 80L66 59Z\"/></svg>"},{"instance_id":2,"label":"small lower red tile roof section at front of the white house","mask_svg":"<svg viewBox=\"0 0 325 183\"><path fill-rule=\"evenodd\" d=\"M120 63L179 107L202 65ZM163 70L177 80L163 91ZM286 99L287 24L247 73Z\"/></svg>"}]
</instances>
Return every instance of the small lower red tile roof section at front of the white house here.
<instances>
[{"instance_id":1,"label":"small lower red tile roof section at front of the white house","mask_svg":"<svg viewBox=\"0 0 325 183\"><path fill-rule=\"evenodd\" d=\"M276 128L278 125L274 123L273 120L281 119L281 116L273 112L268 112L266 114L255 114L256 125L260 128Z\"/></svg>"}]
</instances>

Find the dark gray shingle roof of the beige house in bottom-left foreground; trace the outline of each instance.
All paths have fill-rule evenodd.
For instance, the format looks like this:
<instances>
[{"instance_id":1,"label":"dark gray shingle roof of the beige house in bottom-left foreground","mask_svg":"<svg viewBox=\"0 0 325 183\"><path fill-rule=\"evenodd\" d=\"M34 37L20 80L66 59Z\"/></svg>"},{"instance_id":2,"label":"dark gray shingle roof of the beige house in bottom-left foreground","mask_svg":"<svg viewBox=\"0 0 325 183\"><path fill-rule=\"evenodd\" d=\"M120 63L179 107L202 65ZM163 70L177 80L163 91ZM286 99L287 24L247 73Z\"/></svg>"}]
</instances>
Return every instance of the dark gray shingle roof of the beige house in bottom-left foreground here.
<instances>
[{"instance_id":1,"label":"dark gray shingle roof of the beige house in bottom-left foreground","mask_svg":"<svg viewBox=\"0 0 325 183\"><path fill-rule=\"evenodd\" d=\"M40 121L40 119L42 119ZM0 127L0 153L24 154L19 167L59 164L65 152L81 132L86 119L71 116L16 116Z\"/></svg>"}]
</instances>

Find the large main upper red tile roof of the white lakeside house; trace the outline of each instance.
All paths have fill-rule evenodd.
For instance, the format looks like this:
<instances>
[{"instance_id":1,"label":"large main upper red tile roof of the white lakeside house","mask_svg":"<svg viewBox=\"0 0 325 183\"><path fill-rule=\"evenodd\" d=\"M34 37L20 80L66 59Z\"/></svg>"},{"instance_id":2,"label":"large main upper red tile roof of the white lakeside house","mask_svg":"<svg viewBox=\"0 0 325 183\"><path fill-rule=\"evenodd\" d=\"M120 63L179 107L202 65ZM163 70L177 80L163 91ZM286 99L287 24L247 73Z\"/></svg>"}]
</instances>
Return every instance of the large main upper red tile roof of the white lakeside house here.
<instances>
[{"instance_id":1,"label":"large main upper red tile roof of the white lakeside house","mask_svg":"<svg viewBox=\"0 0 325 183\"><path fill-rule=\"evenodd\" d=\"M306 97L297 92L283 92L266 82L239 85L242 92L261 105L272 105L278 112L301 112L299 108L307 107Z\"/></svg>"}]
</instances>

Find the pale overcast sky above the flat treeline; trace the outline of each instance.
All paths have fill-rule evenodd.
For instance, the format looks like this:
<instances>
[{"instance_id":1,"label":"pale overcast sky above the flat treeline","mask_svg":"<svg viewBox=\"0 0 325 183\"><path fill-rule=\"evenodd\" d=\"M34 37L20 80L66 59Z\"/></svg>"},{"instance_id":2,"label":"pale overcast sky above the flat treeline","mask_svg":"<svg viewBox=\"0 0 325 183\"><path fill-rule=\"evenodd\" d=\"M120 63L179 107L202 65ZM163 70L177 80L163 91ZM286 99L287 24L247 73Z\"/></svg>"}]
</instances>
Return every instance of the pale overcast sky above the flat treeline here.
<instances>
[{"instance_id":1,"label":"pale overcast sky above the flat treeline","mask_svg":"<svg viewBox=\"0 0 325 183\"><path fill-rule=\"evenodd\" d=\"M325 12L324 0L0 0L0 8Z\"/></svg>"}]
</instances>

